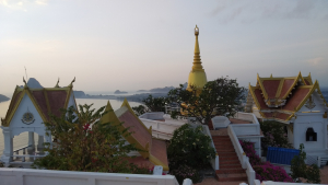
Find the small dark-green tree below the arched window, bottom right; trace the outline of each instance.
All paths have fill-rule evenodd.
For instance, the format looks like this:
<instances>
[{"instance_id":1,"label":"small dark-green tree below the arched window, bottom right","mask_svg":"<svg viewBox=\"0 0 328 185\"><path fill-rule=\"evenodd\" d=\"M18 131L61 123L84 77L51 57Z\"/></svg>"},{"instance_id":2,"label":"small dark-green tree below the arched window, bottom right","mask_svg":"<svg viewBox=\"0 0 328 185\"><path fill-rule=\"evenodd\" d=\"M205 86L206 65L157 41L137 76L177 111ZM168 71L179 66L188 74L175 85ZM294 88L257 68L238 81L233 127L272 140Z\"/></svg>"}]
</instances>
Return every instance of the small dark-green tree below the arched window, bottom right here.
<instances>
[{"instance_id":1,"label":"small dark-green tree below the arched window, bottom right","mask_svg":"<svg viewBox=\"0 0 328 185\"><path fill-rule=\"evenodd\" d=\"M306 183L320 184L320 170L316 164L306 165L306 152L304 144L300 144L300 154L295 155L291 162L292 178L301 183L300 177L306 178Z\"/></svg>"}]
</instances>

